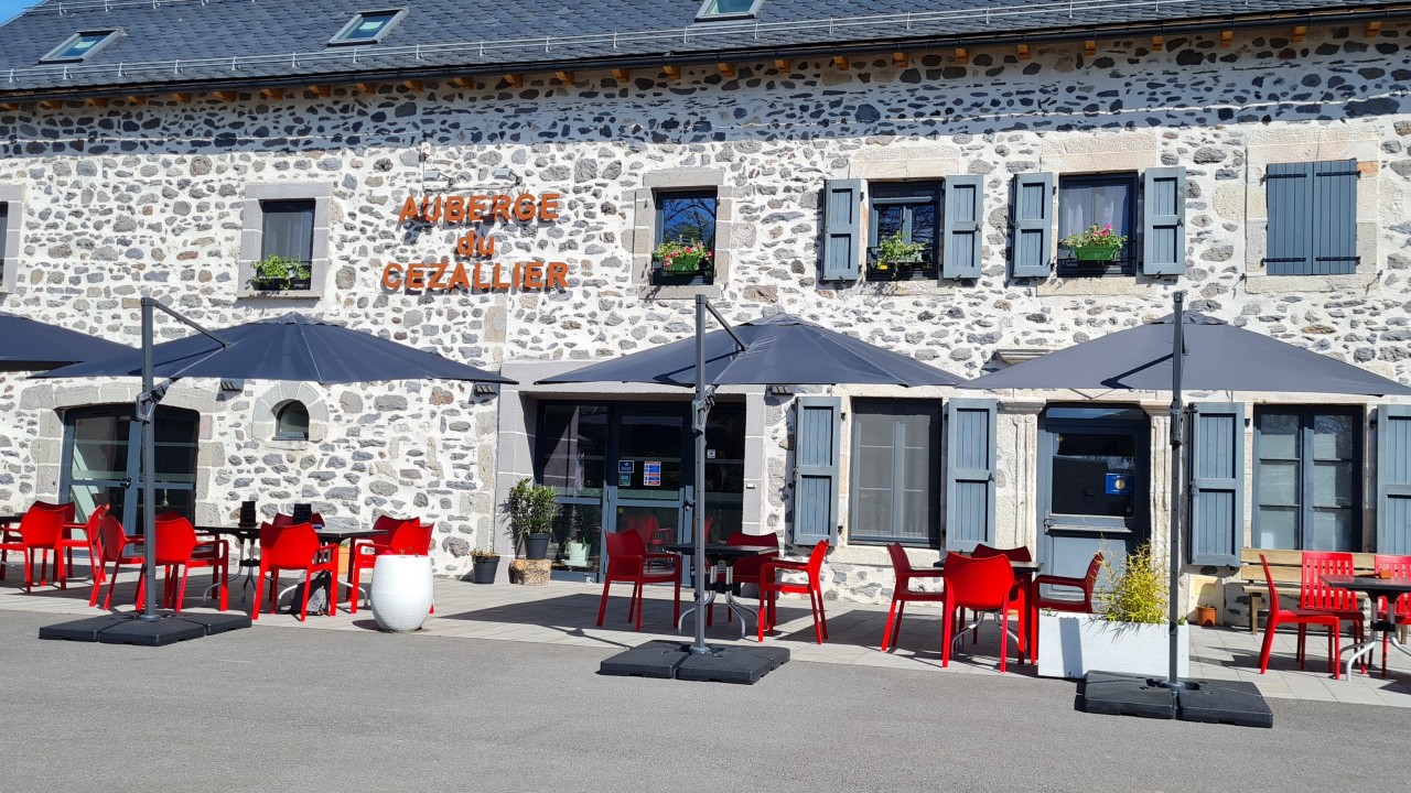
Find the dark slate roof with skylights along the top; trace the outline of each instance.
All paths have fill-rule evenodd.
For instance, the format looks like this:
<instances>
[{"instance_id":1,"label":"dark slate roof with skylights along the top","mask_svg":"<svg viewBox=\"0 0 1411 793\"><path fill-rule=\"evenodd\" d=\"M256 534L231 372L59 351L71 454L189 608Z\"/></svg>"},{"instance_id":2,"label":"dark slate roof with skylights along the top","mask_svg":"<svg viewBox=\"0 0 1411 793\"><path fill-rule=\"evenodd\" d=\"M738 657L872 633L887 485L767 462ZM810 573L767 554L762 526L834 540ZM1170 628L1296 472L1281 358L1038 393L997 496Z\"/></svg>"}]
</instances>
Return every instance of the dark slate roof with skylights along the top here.
<instances>
[{"instance_id":1,"label":"dark slate roof with skylights along the top","mask_svg":"<svg viewBox=\"0 0 1411 793\"><path fill-rule=\"evenodd\" d=\"M378 44L329 47L358 11L392 7L408 13ZM658 68L1158 27L1170 35L1322 14L1411 17L1405 3L1328 0L763 0L753 20L696 23L698 7L698 0L45 0L0 25L0 99ZM41 63L73 32L111 28L123 35L87 61Z\"/></svg>"}]
</instances>

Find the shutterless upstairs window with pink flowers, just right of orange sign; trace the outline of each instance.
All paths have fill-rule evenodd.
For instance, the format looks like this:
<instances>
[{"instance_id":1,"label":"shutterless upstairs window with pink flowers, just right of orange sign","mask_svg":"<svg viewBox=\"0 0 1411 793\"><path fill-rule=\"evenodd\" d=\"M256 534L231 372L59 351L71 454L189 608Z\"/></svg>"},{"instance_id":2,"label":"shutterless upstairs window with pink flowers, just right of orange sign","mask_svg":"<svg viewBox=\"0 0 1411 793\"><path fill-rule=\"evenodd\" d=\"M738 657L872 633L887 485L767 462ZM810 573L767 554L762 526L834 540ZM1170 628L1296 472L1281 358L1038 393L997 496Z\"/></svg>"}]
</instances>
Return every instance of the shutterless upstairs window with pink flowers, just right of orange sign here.
<instances>
[{"instance_id":1,"label":"shutterless upstairs window with pink flowers, just right of orange sign","mask_svg":"<svg viewBox=\"0 0 1411 793\"><path fill-rule=\"evenodd\" d=\"M714 188L656 192L653 284L708 285L715 282L718 200Z\"/></svg>"}]
</instances>

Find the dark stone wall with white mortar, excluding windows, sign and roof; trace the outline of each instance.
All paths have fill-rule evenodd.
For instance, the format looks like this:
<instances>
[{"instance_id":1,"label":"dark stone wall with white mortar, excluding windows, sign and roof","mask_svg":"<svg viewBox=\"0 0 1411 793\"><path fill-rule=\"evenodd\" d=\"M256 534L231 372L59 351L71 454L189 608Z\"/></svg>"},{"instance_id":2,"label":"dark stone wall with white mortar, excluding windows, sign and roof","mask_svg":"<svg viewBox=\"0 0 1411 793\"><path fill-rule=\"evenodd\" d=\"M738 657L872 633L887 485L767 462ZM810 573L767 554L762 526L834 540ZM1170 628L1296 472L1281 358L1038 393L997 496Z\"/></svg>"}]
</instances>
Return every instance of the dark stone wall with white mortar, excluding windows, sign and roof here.
<instances>
[{"instance_id":1,"label":"dark stone wall with white mortar, excluding windows, sign and roof","mask_svg":"<svg viewBox=\"0 0 1411 793\"><path fill-rule=\"evenodd\" d=\"M127 343L137 341L138 296L151 293L213 327L301 310L485 368L619 356L691 332L691 306L674 298L696 289L643 291L653 222L642 198L708 172L728 189L729 267L706 291L732 320L787 310L971 377L1002 349L1061 347L1160 316L1184 288L1195 310L1411 380L1407 34L1311 30L1292 44L1250 31L1230 48L1218 37L1173 38L1156 52L1103 41L1095 56L1074 45L1036 47L1026 61L993 49L964 66L921 54L902 68L890 56L854 58L847 71L800 61L789 73L741 63L731 78L701 68L676 82L639 71L626 83L579 73L571 86L536 76L521 89L432 82L278 103L198 95L190 104L27 106L0 111L0 185L25 190L20 271L0 303ZM1363 169L1357 274L1264 277L1264 164L1336 157ZM1013 174L1156 165L1187 168L1184 277L1006 278ZM985 176L982 278L818 281L827 179L951 174ZM243 209L270 185L330 186L316 299L250 295L240 284L238 262L255 255ZM566 261L569 289L382 288L382 265L439 261L464 231L399 227L406 196L502 190L563 193L559 222L491 233L495 261ZM162 339L185 333L159 326ZM65 389L80 388L4 378L0 502L54 495L56 480L37 476L58 464L58 422L41 425L73 404ZM494 396L446 382L308 387L326 422L316 439L292 443L267 429L275 385L219 401L213 382L182 388L212 405L206 519L230 519L251 495L271 508L313 501L349 521L416 512L437 522L443 573L468 570L467 549L497 542ZM761 523L780 531L786 406L769 402L763 429ZM1002 473L1016 466L1000 463ZM1006 481L1002 498L1022 501L1023 481ZM1031 536L1026 509L1010 509L1000 533ZM856 571L838 557L840 588L882 597L868 571L886 564L879 552L856 550Z\"/></svg>"}]
</instances>

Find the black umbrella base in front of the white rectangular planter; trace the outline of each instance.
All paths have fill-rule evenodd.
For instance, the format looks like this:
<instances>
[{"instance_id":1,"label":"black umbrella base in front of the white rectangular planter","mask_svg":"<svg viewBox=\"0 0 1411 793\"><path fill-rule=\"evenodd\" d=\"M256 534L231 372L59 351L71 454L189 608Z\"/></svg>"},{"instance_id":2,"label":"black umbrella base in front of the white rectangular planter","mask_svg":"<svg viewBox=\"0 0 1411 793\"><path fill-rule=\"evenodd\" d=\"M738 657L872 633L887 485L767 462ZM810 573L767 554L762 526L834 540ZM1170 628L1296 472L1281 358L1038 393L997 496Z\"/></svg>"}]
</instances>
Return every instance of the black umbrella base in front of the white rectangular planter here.
<instances>
[{"instance_id":1,"label":"black umbrella base in front of the white rectangular planter","mask_svg":"<svg viewBox=\"0 0 1411 793\"><path fill-rule=\"evenodd\" d=\"M1274 725L1274 714L1253 683L1185 680L1184 686L1177 689L1173 697L1164 680L1115 672L1089 672L1078 691L1078 710L1237 727Z\"/></svg>"}]
</instances>

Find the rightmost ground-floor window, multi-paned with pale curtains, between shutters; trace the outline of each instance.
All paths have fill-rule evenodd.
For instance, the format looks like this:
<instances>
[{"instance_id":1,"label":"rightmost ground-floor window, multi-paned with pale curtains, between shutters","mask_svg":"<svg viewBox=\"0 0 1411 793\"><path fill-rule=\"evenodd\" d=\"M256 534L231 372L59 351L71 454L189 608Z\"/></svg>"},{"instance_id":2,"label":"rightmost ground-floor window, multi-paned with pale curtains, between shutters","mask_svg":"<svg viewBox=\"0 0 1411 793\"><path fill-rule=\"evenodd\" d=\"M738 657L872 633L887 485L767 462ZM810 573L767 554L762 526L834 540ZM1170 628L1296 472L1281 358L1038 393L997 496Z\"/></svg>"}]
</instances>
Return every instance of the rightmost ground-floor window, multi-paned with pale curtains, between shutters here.
<instances>
[{"instance_id":1,"label":"rightmost ground-floor window, multi-paned with pale curtains, between shutters","mask_svg":"<svg viewBox=\"0 0 1411 793\"><path fill-rule=\"evenodd\" d=\"M1254 546L1362 550L1362 409L1254 411Z\"/></svg>"}]
</instances>

